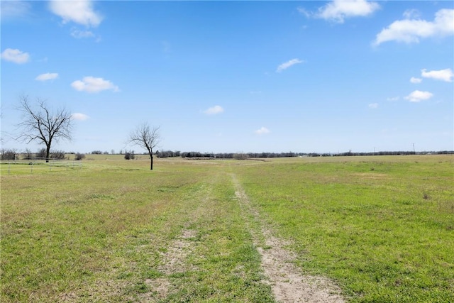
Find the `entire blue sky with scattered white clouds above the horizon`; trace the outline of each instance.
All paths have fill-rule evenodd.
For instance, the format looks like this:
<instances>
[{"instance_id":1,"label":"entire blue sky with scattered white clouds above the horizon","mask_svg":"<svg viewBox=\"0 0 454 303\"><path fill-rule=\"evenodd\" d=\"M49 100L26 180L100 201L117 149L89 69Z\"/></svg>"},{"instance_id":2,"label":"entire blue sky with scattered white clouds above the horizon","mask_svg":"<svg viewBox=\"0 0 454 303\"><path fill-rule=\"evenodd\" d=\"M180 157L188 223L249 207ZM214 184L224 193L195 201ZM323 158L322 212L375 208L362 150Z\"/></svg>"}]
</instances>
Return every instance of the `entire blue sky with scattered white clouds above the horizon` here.
<instances>
[{"instance_id":1,"label":"entire blue sky with scattered white clouds above the horizon","mask_svg":"<svg viewBox=\"0 0 454 303\"><path fill-rule=\"evenodd\" d=\"M72 113L52 149L454 150L453 1L1 1L1 148L21 95Z\"/></svg>"}]
</instances>

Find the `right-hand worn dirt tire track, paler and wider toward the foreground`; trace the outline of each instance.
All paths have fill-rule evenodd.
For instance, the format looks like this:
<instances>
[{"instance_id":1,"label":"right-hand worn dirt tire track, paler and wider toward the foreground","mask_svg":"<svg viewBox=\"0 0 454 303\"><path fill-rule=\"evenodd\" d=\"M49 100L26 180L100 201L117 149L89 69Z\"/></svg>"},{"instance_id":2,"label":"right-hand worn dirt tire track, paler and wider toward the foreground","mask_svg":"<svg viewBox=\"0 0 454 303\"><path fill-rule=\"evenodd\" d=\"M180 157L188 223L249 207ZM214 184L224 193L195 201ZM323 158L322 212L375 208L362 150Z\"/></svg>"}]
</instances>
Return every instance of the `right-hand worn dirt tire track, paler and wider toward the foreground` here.
<instances>
[{"instance_id":1,"label":"right-hand worn dirt tire track, paler and wider toward the foreground","mask_svg":"<svg viewBox=\"0 0 454 303\"><path fill-rule=\"evenodd\" d=\"M301 275L300 270L293 263L296 255L284 248L288 243L273 236L270 226L260 219L260 214L250 204L234 174L232 174L232 182L240 207L244 210L246 226L253 236L254 245L262 255L262 268L277 302L345 302L341 297L341 290L331 280L325 277ZM260 226L261 233L250 226L250 220Z\"/></svg>"}]
</instances>

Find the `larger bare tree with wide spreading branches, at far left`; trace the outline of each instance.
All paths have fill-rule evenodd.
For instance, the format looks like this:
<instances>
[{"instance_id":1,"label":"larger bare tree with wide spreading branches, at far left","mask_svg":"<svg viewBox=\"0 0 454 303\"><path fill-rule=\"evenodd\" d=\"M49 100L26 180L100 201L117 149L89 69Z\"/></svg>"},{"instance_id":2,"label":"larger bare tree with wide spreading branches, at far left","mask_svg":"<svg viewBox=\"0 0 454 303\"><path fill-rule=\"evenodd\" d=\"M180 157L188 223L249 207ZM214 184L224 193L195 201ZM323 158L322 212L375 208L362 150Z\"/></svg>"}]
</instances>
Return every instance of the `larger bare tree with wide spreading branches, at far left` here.
<instances>
[{"instance_id":1,"label":"larger bare tree with wide spreading branches, at far left","mask_svg":"<svg viewBox=\"0 0 454 303\"><path fill-rule=\"evenodd\" d=\"M26 143L38 141L44 144L45 158L48 162L52 143L60 139L71 140L71 114L66 109L59 109L52 113L42 99L37 99L36 108L31 106L28 96L22 95L20 99L21 104L18 109L23 113L23 120L18 124L21 133L17 139Z\"/></svg>"}]
</instances>

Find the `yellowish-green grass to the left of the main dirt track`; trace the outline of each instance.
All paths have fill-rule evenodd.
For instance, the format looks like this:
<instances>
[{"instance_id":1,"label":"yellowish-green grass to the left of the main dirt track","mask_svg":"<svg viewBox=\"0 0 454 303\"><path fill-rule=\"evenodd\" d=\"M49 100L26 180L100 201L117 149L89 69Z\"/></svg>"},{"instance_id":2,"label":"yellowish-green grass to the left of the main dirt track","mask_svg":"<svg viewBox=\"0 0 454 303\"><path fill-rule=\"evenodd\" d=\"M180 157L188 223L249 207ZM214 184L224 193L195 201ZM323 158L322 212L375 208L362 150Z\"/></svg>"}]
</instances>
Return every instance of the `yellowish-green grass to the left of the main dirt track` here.
<instances>
[{"instance_id":1,"label":"yellowish-green grass to the left of the main dirt track","mask_svg":"<svg viewBox=\"0 0 454 303\"><path fill-rule=\"evenodd\" d=\"M223 164L148 165L2 175L0 301L272 302Z\"/></svg>"}]
</instances>

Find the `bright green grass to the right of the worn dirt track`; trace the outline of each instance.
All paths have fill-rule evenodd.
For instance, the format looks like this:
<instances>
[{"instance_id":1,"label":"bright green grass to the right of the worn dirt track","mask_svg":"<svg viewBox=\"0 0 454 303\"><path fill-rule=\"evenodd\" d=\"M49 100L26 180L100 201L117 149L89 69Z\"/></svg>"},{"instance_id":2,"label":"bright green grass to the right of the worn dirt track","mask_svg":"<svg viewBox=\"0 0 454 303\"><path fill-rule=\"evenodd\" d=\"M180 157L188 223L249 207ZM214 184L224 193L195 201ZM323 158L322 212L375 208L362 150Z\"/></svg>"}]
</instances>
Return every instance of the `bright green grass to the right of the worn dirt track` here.
<instances>
[{"instance_id":1,"label":"bright green grass to the right of the worn dirt track","mask_svg":"<svg viewBox=\"0 0 454 303\"><path fill-rule=\"evenodd\" d=\"M332 277L351 302L454 302L453 160L311 158L239 175L301 270Z\"/></svg>"}]
</instances>

